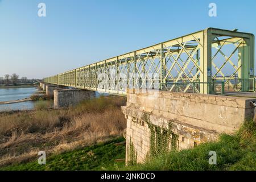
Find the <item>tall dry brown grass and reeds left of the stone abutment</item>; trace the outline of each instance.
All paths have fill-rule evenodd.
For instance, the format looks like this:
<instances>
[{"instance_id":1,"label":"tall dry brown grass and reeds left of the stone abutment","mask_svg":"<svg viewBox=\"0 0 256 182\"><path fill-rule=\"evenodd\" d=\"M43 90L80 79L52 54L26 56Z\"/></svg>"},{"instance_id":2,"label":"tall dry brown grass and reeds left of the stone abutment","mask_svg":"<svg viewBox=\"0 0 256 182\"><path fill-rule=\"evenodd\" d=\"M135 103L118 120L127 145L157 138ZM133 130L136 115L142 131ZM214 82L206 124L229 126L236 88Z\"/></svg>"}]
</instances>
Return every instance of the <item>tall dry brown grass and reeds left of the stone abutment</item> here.
<instances>
[{"instance_id":1,"label":"tall dry brown grass and reeds left of the stone abutment","mask_svg":"<svg viewBox=\"0 0 256 182\"><path fill-rule=\"evenodd\" d=\"M126 119L120 106L125 97L100 97L67 109L0 114L0 167L29 162L38 151L61 154L109 136L122 136Z\"/></svg>"}]
</instances>

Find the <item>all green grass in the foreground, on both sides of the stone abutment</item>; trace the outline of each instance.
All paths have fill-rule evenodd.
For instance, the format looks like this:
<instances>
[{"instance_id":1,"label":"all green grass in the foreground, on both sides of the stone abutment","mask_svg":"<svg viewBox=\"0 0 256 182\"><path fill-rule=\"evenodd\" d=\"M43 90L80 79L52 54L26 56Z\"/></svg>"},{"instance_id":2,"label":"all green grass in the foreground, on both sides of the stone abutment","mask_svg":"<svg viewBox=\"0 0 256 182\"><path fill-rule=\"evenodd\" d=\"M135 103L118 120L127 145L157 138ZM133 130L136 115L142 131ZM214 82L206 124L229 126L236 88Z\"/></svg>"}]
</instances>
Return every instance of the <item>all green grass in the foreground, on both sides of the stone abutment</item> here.
<instances>
[{"instance_id":1,"label":"all green grass in the foreground, on both sides of the stone abutment","mask_svg":"<svg viewBox=\"0 0 256 182\"><path fill-rule=\"evenodd\" d=\"M125 146L114 146L122 142L122 137L92 146L76 148L61 154L47 157L46 166L33 162L14 164L0 170L175 170L175 171L214 171L214 170L256 170L256 126L246 122L233 135L222 134L216 142L171 151L146 160L143 164L125 166L124 162L114 162L125 158ZM217 164L209 164L209 151L216 151Z\"/></svg>"}]
</instances>

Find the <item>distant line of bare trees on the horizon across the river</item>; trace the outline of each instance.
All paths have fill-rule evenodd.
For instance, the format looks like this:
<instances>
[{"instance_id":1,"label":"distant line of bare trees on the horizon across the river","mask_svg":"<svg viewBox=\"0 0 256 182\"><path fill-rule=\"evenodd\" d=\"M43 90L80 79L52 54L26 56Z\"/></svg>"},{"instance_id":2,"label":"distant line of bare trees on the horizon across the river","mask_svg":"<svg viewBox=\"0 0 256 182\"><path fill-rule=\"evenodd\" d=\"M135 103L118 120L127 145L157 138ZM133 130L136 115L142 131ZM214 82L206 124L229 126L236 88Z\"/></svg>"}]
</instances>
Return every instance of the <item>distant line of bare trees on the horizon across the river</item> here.
<instances>
[{"instance_id":1,"label":"distant line of bare trees on the horizon across the river","mask_svg":"<svg viewBox=\"0 0 256 182\"><path fill-rule=\"evenodd\" d=\"M30 84L32 82L38 81L37 79L28 79L27 77L19 78L19 75L13 73L12 75L6 74L5 76L0 76L0 85L9 85L9 84Z\"/></svg>"}]
</instances>

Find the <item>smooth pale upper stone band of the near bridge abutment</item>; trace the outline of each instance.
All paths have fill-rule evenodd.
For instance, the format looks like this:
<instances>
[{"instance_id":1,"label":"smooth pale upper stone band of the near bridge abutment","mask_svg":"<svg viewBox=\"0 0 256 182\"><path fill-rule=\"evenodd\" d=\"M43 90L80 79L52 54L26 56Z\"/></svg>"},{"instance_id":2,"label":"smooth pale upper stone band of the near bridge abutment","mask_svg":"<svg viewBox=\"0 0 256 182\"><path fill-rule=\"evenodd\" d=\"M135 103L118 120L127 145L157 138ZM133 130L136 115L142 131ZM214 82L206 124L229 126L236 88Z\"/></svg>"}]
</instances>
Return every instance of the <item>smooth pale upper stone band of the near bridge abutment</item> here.
<instances>
[{"instance_id":1,"label":"smooth pale upper stone band of the near bridge abutment","mask_svg":"<svg viewBox=\"0 0 256 182\"><path fill-rule=\"evenodd\" d=\"M147 96L139 91L131 91L129 90L127 107L177 119L208 130L233 132L241 126L245 118L253 117L250 101L255 99L163 91L156 91L156 94Z\"/></svg>"}]
</instances>

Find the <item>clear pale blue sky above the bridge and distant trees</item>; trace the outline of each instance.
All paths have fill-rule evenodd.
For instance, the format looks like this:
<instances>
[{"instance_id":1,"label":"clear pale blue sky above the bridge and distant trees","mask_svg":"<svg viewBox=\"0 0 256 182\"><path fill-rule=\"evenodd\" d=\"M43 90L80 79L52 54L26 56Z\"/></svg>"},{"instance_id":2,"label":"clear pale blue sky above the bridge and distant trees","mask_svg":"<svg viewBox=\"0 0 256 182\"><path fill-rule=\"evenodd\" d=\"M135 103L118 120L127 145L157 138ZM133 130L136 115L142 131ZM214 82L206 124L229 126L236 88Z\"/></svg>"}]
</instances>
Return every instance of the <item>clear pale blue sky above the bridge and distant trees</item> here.
<instances>
[{"instance_id":1,"label":"clear pale blue sky above the bridge and distant trees","mask_svg":"<svg viewBox=\"0 0 256 182\"><path fill-rule=\"evenodd\" d=\"M0 76L43 78L207 27L256 34L255 22L255 0L0 0Z\"/></svg>"}]
</instances>

